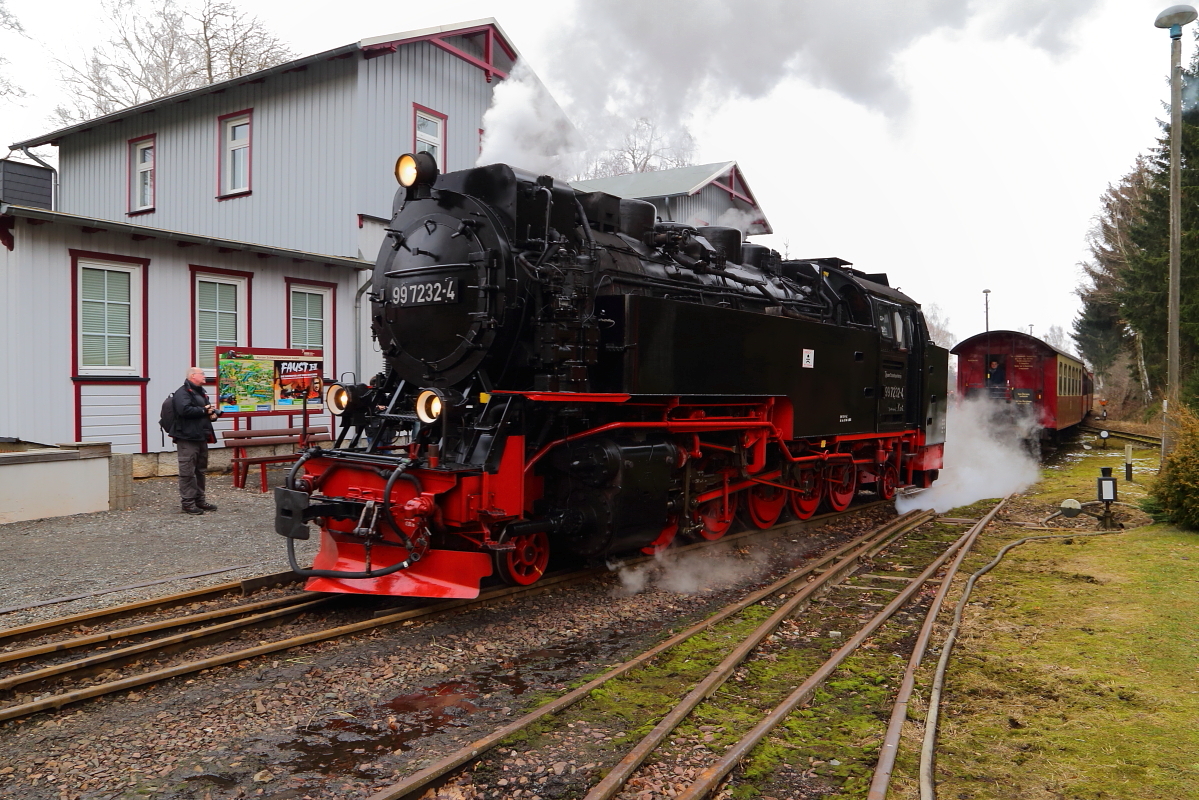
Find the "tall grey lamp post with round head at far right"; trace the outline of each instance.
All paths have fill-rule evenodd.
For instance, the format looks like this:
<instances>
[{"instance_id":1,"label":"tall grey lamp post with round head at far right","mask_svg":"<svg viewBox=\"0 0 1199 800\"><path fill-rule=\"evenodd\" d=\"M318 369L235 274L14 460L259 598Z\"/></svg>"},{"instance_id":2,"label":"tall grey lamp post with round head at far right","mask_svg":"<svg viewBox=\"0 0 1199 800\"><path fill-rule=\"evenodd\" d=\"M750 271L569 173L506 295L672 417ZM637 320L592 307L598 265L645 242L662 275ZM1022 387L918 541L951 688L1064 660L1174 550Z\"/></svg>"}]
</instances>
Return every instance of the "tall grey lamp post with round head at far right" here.
<instances>
[{"instance_id":1,"label":"tall grey lamp post with round head at far right","mask_svg":"<svg viewBox=\"0 0 1199 800\"><path fill-rule=\"evenodd\" d=\"M1182 193L1179 168L1182 146L1182 26L1199 13L1191 6L1170 6L1153 24L1170 29L1170 279L1167 306L1165 397L1162 401L1162 459L1174 446L1171 405L1179 395L1179 283L1181 281Z\"/></svg>"}]
</instances>

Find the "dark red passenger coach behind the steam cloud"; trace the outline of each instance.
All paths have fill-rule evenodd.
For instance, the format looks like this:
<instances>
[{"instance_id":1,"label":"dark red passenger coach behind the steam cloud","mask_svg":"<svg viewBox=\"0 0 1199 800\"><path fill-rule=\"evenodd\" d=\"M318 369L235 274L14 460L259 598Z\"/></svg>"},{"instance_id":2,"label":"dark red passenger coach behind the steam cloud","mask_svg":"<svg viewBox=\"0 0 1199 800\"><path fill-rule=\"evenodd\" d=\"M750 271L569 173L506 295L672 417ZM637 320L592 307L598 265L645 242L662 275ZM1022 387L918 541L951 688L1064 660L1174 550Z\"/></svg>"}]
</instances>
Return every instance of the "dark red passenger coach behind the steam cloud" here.
<instances>
[{"instance_id":1,"label":"dark red passenger coach behind the steam cloud","mask_svg":"<svg viewBox=\"0 0 1199 800\"><path fill-rule=\"evenodd\" d=\"M959 342L958 397L990 397L1031 407L1046 432L1083 421L1091 409L1093 381L1086 366L1019 331L988 331Z\"/></svg>"}]
</instances>

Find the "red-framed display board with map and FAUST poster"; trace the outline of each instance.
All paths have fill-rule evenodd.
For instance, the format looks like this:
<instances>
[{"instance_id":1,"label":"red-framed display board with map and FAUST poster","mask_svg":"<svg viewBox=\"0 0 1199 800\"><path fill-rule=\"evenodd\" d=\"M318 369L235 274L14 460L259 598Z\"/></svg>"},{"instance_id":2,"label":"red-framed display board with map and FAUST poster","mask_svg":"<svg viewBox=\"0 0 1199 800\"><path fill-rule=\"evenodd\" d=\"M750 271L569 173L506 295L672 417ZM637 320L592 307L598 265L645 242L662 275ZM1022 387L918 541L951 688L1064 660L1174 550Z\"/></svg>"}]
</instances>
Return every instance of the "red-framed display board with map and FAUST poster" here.
<instances>
[{"instance_id":1,"label":"red-framed display board with map and FAUST poster","mask_svg":"<svg viewBox=\"0 0 1199 800\"><path fill-rule=\"evenodd\" d=\"M321 350L217 350L217 393L223 414L319 414L324 410Z\"/></svg>"}]
</instances>

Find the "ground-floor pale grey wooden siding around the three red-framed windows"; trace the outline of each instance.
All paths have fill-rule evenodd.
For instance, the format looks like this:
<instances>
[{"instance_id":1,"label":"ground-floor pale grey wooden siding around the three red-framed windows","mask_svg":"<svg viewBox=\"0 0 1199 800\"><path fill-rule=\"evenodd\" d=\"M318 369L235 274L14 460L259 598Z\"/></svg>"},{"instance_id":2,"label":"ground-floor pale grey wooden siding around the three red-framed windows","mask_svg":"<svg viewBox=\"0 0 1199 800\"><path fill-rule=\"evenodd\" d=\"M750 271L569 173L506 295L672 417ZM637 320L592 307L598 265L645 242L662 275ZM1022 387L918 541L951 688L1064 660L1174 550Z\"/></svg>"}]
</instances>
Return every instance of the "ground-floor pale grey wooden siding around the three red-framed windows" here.
<instances>
[{"instance_id":1,"label":"ground-floor pale grey wooden siding around the three red-framed windows","mask_svg":"<svg viewBox=\"0 0 1199 800\"><path fill-rule=\"evenodd\" d=\"M145 425L149 450L174 450L158 433L162 399L183 383L192 363L192 272L189 265L253 273L249 337L253 347L285 348L287 278L336 284L336 347L326 349L326 375L353 369L356 270L326 267L252 253L221 253L217 247L177 247L170 240L133 241L126 234L85 234L77 225L30 225L17 219L16 247L0 247L0 437L56 444L76 439L76 365L72 362L71 248L149 259L146 273L145 408L131 419L131 398L140 385L80 384L84 440L113 441L118 451L140 450ZM357 242L355 242L355 249ZM368 312L369 314L369 312ZM367 314L367 315L368 315ZM364 345L369 350L369 345ZM138 367L140 371L140 365ZM299 425L299 415L291 420ZM282 427L288 416L259 417L253 427ZM330 425L325 415L317 425ZM223 420L221 428L230 427ZM134 435L135 428L135 435Z\"/></svg>"}]
</instances>

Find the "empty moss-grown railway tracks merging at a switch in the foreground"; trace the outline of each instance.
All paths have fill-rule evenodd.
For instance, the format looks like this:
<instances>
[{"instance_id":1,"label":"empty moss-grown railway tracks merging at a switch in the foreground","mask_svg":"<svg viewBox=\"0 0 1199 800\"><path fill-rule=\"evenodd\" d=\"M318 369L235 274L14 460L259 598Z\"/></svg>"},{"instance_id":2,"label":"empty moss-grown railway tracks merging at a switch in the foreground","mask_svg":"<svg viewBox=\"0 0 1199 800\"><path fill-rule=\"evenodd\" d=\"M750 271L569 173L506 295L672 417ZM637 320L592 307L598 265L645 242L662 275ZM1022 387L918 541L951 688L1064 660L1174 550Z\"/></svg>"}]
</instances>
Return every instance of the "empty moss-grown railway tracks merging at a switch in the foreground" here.
<instances>
[{"instance_id":1,"label":"empty moss-grown railway tracks merging at a switch in the foreground","mask_svg":"<svg viewBox=\"0 0 1199 800\"><path fill-rule=\"evenodd\" d=\"M650 787L651 793L645 796L676 796L688 800L709 796L725 782L730 780L736 782L734 772L737 765L754 747L772 735L772 732L796 709L812 703L818 687L843 666L846 658L857 652L863 643L875 636L888 619L921 595L924 585L933 581L938 571L954 555L958 557L954 563L956 569L969 546L998 510L999 506L995 506L983 519L971 521L974 524L960 535L958 533L960 528L952 525L963 521L929 527L928 523L934 521L932 512L911 512L897 518L794 570L770 587L743 597L537 710L496 728L400 782L376 792L370 800L418 796L429 788L445 786L456 780L476 784L483 782L482 786L475 787L475 793L466 796L496 796L490 794L495 790L500 796L510 796L511 788L516 786L531 787L529 796L532 796L538 782L544 783L549 774L540 774L544 768L534 772L531 765L554 760L554 756L529 752L522 753L522 758L516 758L516 751L507 748L520 740L523 748L532 751L540 745L547 753L553 753L554 741L572 735L568 733L571 729L592 733L598 729L602 740L611 744L604 750L601 763L588 764L590 769L571 771L568 777L573 784L554 787L559 794L565 792L570 796L584 796L585 793L586 800L607 800L615 796L640 796L643 789ZM924 533L917 535L914 533L917 530ZM948 533L951 530L952 534ZM904 551L910 551L909 554L914 558L906 559L910 563L900 564L899 561L905 560ZM920 552L918 557L915 551ZM923 558L924 555L927 558ZM887 569L880 570L882 561ZM898 575L881 575L881 572ZM909 572L914 577L905 575ZM932 620L935 619L940 600L945 596L952 575L947 575L942 579L941 590L930 603L924 628L916 643L916 650L920 652L914 651L911 656L914 663L918 663L918 655L922 655L923 648L927 646ZM839 591L832 593L832 589ZM885 606L874 602L880 594L888 597ZM825 603L832 602L827 597L835 596L838 606L845 604L845 597L858 597L858 602L848 603L849 610L842 608L844 613L840 618L842 620L861 618L861 621L852 633L843 636L837 632L837 636L827 642L821 640L814 646L807 646L812 643L803 636L803 630L811 622L796 622L796 619L803 619L797 618L797 614L809 604L814 604L821 595L826 597ZM769 615L766 609L770 610ZM755 624L749 625L749 621ZM740 633L734 636L734 631ZM688 670L685 666L675 666L692 662L694 655L670 662L671 666L663 666L662 662L674 657L671 654L688 643L700 639L704 639L707 646L715 642L724 643L719 652L711 656L710 663L705 662L705 669L700 670L703 674L695 674L688 685L679 687L669 697L662 697L656 708L644 714L629 711L631 703L617 703L620 708L617 718L597 721L597 717L602 717L604 696L613 698L635 696L644 699L647 694L661 692L662 685L653 682L653 669L657 669L658 675L662 670L675 674L669 672L671 669L676 669L677 673L694 673L693 668ZM801 645L801 642L805 644ZM813 658L811 651L821 648L831 652L826 651L819 658ZM785 687L777 685L777 681L773 685L757 685L748 680L764 662L778 664L790 663L793 660L796 664L807 660L811 668L805 669L802 678ZM790 674L788 669L765 672L773 675ZM897 703L906 703L914 672L915 666L910 664L909 674L903 680L906 693L902 691ZM735 693L725 688L730 679L736 681ZM637 688L639 685L643 686L640 693ZM734 699L729 700L729 697ZM634 706L643 704L632 703ZM755 718L747 720L747 708L763 711L758 712ZM906 716L905 706L897 708L893 716L902 722ZM694 729L697 721L701 720L724 722L719 726L701 727L718 729L719 739L711 745L688 747L692 739L679 733L680 726L689 721L691 728ZM629 729L647 733L632 736L628 734ZM704 741L709 739L716 736L706 734ZM898 732L893 739L898 741ZM892 742L890 734L887 741ZM616 746L616 742L625 744ZM688 770L683 764L689 762L680 756L693 759L697 748L704 751L709 763L701 770ZM893 742L890 748L894 750ZM508 758L505 758L505 754ZM596 760L594 752L588 758ZM880 772L875 777L875 783L882 787L884 793L891 763L893 752L888 754L887 746L884 746L882 757L879 759ZM470 764L474 766L469 771L463 769ZM529 765L529 774L522 772L522 765L525 764ZM669 795L664 789L658 793L653 789L657 786L653 776L663 774L687 775L686 787L679 792L679 787L675 786ZM494 783L487 783L489 780L494 780ZM872 800L875 796L884 795L870 794Z\"/></svg>"}]
</instances>

